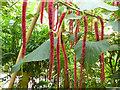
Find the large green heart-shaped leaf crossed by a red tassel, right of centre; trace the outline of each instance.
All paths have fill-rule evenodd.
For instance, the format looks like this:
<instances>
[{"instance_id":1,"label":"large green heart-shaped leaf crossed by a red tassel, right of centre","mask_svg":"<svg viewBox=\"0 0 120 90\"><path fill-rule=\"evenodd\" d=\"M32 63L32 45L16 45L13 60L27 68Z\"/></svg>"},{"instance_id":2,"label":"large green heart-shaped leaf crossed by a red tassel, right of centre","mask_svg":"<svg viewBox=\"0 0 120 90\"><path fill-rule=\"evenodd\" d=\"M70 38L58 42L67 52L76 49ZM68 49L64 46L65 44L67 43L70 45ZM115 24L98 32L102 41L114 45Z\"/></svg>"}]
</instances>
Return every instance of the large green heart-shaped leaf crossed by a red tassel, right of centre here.
<instances>
[{"instance_id":1,"label":"large green heart-shaped leaf crossed by a red tassel, right of centre","mask_svg":"<svg viewBox=\"0 0 120 90\"><path fill-rule=\"evenodd\" d=\"M82 43L83 41L78 42L74 49L76 58L77 60L80 61L82 56ZM86 53L85 53L84 66L85 65L91 66L92 64L96 63L100 55L109 49L110 49L110 44L109 41L107 40L101 40L98 42L87 41L85 47Z\"/></svg>"}]
</instances>

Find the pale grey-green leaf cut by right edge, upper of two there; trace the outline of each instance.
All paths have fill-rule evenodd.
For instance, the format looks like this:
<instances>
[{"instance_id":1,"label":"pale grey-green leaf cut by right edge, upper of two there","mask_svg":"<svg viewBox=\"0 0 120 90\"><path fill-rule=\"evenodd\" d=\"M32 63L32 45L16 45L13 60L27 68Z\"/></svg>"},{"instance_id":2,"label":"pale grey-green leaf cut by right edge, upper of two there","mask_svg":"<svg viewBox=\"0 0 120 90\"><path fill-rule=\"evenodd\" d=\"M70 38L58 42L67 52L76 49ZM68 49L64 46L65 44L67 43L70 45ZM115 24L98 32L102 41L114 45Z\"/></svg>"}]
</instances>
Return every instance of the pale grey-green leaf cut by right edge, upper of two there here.
<instances>
[{"instance_id":1,"label":"pale grey-green leaf cut by right edge, upper of two there","mask_svg":"<svg viewBox=\"0 0 120 90\"><path fill-rule=\"evenodd\" d=\"M106 26L112 26L113 31L120 32L120 20L118 21L109 21Z\"/></svg>"}]
</instances>

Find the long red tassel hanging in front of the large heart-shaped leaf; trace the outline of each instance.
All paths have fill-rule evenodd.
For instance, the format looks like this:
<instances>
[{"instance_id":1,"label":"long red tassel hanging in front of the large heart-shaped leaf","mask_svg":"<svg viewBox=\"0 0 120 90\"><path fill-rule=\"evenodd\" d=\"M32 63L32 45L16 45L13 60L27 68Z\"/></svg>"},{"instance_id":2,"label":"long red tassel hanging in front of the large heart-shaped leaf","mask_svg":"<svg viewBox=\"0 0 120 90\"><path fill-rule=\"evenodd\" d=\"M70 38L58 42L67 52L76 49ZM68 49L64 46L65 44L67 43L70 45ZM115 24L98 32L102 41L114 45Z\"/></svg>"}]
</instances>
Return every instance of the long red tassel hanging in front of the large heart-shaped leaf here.
<instances>
[{"instance_id":1,"label":"long red tassel hanging in front of the large heart-shaped leaf","mask_svg":"<svg viewBox=\"0 0 120 90\"><path fill-rule=\"evenodd\" d=\"M85 60L85 44L86 44L86 38L87 38L87 31L88 31L88 24L87 24L87 18L86 16L83 16L84 19L84 37L83 37L83 45L82 45L82 58L81 58L81 68L80 68L80 83L79 88L82 88L82 71L83 71L83 63Z\"/></svg>"}]
</instances>

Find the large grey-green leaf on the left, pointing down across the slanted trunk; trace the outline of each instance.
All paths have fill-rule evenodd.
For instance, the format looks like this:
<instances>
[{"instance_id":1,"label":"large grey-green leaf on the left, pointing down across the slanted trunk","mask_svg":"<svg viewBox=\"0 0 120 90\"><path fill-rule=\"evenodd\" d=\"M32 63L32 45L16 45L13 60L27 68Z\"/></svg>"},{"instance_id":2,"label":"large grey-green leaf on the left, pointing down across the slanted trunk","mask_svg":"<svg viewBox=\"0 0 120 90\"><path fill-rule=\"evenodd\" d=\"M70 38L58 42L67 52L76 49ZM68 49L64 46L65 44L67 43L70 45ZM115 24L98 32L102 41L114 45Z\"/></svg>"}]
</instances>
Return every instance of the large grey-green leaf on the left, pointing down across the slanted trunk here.
<instances>
[{"instance_id":1,"label":"large grey-green leaf on the left, pointing down across the slanted trunk","mask_svg":"<svg viewBox=\"0 0 120 90\"><path fill-rule=\"evenodd\" d=\"M57 38L55 38L55 46L57 45ZM26 55L23 59L24 62L32 62L32 61L42 61L49 59L50 55L50 39L44 42L41 46L35 49L33 52ZM22 64L22 59L19 62L12 66L11 73L17 72L20 70L20 66Z\"/></svg>"}]
</instances>

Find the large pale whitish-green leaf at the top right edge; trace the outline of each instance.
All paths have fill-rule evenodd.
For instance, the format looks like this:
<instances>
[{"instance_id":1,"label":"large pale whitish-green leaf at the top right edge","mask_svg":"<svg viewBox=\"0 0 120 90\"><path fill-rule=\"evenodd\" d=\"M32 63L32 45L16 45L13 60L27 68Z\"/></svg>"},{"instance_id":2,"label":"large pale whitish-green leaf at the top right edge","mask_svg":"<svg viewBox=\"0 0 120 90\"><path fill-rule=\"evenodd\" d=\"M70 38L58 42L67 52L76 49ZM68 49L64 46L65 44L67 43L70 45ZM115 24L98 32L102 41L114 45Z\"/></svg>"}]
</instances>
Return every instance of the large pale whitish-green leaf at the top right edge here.
<instances>
[{"instance_id":1,"label":"large pale whitish-green leaf at the top right edge","mask_svg":"<svg viewBox=\"0 0 120 90\"><path fill-rule=\"evenodd\" d=\"M101 0L73 0L73 3L75 3L81 11L93 10L95 8L103 8L109 11L116 11L119 9L116 6L108 5Z\"/></svg>"}]
</instances>

